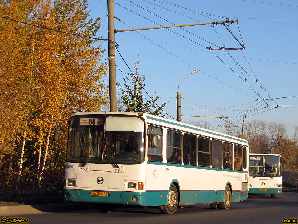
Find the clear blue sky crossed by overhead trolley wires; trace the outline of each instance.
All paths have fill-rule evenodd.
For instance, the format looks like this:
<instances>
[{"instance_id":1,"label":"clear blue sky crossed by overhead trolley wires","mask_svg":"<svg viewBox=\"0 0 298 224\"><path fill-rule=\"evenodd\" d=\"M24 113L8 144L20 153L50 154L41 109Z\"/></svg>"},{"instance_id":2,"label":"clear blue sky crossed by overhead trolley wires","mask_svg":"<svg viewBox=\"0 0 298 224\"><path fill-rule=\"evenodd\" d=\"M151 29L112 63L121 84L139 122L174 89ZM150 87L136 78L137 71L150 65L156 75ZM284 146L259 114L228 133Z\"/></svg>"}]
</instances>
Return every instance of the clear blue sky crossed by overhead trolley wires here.
<instances>
[{"instance_id":1,"label":"clear blue sky crossed by overhead trolley wires","mask_svg":"<svg viewBox=\"0 0 298 224\"><path fill-rule=\"evenodd\" d=\"M114 2L115 16L121 20L115 19L117 30L238 19L238 25L233 23L229 28L244 43L245 50L206 49L240 47L221 24L214 27L204 25L121 32L115 34L115 40L119 52L133 72L140 54L139 74L145 73L145 90L150 95L156 92L161 98L157 102L159 105L170 98L164 111L174 119L177 118L178 83L198 69L198 73L180 83L181 97L185 98L181 102L182 115L227 116L229 121L242 126L243 114L257 108L252 113L246 113L245 122L253 119L281 122L288 128L289 137L292 137L294 125L298 125L297 1ZM98 36L108 39L107 0L89 0L89 4L91 17L102 16ZM102 46L107 49L108 43L103 41ZM108 56L107 51L104 56ZM117 51L116 65L123 73L129 72ZM116 80L123 83L119 69L116 70ZM149 99L145 91L143 95ZM258 100L282 97L287 98ZM278 107L272 107L275 105ZM172 119L170 116L167 118ZM218 125L225 125L219 118L182 119L207 120L212 130L220 132L223 132L223 128Z\"/></svg>"}]
</instances>

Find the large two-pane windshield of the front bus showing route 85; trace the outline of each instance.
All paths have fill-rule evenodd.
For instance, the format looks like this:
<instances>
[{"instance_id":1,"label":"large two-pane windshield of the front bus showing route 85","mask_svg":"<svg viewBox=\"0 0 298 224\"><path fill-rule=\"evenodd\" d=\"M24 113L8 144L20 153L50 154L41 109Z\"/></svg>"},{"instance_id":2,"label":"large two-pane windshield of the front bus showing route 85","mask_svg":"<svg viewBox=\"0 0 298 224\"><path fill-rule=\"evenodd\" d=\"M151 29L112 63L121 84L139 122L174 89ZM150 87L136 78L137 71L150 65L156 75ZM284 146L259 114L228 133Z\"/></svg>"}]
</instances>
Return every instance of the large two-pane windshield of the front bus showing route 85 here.
<instances>
[{"instance_id":1,"label":"large two-pane windshield of the front bus showing route 85","mask_svg":"<svg viewBox=\"0 0 298 224\"><path fill-rule=\"evenodd\" d=\"M140 163L144 153L144 122L140 118L84 115L70 120L68 162Z\"/></svg>"}]
</instances>

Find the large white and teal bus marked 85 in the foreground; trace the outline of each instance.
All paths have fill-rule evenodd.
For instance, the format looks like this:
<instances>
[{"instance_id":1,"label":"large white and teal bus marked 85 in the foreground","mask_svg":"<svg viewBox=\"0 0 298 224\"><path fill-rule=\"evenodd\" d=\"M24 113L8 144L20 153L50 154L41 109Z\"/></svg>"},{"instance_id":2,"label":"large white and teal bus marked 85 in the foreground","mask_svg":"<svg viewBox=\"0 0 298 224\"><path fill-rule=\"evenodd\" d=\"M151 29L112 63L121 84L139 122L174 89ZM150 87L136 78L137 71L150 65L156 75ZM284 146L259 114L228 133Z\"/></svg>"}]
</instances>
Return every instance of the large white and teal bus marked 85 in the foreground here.
<instances>
[{"instance_id":1,"label":"large white and teal bus marked 85 in the foreground","mask_svg":"<svg viewBox=\"0 0 298 224\"><path fill-rule=\"evenodd\" d=\"M146 113L73 113L64 200L229 209L248 196L248 142Z\"/></svg>"}]
</instances>

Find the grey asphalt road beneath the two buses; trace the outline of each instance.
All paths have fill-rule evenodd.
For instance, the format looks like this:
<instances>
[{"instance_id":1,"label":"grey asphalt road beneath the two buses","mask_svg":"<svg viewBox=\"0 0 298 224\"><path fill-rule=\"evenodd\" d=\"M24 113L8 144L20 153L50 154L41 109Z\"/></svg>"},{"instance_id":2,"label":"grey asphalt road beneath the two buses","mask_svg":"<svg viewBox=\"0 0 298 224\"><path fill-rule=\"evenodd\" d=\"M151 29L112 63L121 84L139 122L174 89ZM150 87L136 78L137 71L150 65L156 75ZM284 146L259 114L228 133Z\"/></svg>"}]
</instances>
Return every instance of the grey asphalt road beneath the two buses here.
<instances>
[{"instance_id":1,"label":"grey asphalt road beneath the two buses","mask_svg":"<svg viewBox=\"0 0 298 224\"><path fill-rule=\"evenodd\" d=\"M229 210L211 209L209 205L179 208L173 215L161 214L156 208L117 207L111 213L97 210L60 211L3 217L28 218L28 223L283 223L284 218L298 218L298 193L284 192L254 195L242 202L233 202Z\"/></svg>"}]
</instances>

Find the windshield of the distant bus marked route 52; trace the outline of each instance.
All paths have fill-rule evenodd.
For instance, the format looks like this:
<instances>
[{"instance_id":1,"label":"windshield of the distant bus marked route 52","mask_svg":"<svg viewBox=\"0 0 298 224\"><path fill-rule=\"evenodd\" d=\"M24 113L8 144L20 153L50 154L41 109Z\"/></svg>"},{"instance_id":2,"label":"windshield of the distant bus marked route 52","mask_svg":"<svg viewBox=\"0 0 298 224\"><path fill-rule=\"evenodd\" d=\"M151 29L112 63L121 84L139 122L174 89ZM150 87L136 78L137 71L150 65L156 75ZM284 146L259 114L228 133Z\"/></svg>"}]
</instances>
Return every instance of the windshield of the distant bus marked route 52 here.
<instances>
[{"instance_id":1,"label":"windshield of the distant bus marked route 52","mask_svg":"<svg viewBox=\"0 0 298 224\"><path fill-rule=\"evenodd\" d=\"M280 177L281 158L270 155L249 155L249 175Z\"/></svg>"}]
</instances>

